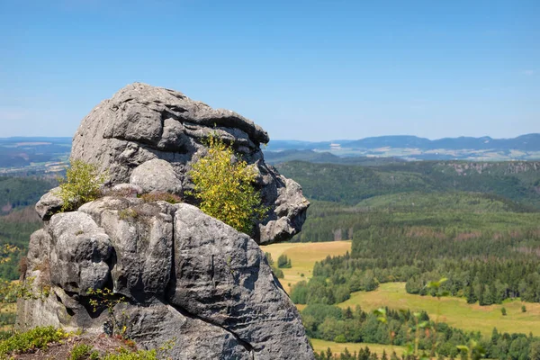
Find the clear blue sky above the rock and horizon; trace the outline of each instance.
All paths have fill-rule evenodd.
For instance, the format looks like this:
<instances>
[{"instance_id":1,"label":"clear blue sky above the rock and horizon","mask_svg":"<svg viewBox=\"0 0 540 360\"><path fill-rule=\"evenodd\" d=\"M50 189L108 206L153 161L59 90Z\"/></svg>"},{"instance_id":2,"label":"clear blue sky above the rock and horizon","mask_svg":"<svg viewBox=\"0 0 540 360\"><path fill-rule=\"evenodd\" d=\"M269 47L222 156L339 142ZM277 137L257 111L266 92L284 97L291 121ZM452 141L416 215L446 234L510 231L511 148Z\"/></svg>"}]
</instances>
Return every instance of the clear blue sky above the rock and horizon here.
<instances>
[{"instance_id":1,"label":"clear blue sky above the rock and horizon","mask_svg":"<svg viewBox=\"0 0 540 360\"><path fill-rule=\"evenodd\" d=\"M540 1L0 0L0 137L140 81L271 139L540 132Z\"/></svg>"}]
</instances>

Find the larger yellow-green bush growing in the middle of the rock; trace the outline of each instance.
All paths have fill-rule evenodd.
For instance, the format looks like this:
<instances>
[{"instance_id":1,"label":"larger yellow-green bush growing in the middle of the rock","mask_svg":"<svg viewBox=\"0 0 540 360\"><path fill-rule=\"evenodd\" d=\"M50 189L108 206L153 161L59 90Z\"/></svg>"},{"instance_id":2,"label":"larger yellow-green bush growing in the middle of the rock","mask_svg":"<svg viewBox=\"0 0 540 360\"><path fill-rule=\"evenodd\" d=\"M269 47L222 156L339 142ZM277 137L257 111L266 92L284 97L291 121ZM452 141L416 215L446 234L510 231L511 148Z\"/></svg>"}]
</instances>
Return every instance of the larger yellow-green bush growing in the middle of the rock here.
<instances>
[{"instance_id":1,"label":"larger yellow-green bush growing in the middle of the rock","mask_svg":"<svg viewBox=\"0 0 540 360\"><path fill-rule=\"evenodd\" d=\"M257 173L246 161L235 161L234 151L210 136L208 155L193 164L190 175L201 210L238 231L250 233L266 208L253 183ZM237 156L238 157L238 156Z\"/></svg>"}]
</instances>

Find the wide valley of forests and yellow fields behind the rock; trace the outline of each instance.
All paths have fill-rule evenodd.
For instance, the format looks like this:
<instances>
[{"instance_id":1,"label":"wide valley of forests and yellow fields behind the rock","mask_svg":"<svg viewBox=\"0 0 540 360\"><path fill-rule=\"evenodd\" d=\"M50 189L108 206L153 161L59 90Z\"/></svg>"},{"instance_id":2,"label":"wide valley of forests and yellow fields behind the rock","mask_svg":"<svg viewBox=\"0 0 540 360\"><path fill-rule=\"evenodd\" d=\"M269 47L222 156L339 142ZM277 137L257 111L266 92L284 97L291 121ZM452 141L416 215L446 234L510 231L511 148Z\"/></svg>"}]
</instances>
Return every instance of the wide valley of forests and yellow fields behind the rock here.
<instances>
[{"instance_id":1,"label":"wide valley of forests and yellow fields behind the rock","mask_svg":"<svg viewBox=\"0 0 540 360\"><path fill-rule=\"evenodd\" d=\"M406 329L414 328L417 312L433 321L430 326L447 327L445 356L470 339L483 344L494 328L497 337L509 334L508 347L527 339L528 348L536 341L540 163L276 166L302 184L311 208L301 234L262 249L275 266L281 256L291 261L280 269L280 282L302 311L318 353L369 347L390 354L390 340L381 335L384 325L373 315L381 308L390 311L398 353L410 342ZM15 279L28 237L39 226L31 204L55 183L39 176L2 179L1 244L22 250L6 257L0 274ZM441 278L447 280L437 291L428 286ZM400 310L409 312L400 315ZM429 344L420 337L421 348ZM503 345L489 348L492 358L508 351Z\"/></svg>"}]
</instances>

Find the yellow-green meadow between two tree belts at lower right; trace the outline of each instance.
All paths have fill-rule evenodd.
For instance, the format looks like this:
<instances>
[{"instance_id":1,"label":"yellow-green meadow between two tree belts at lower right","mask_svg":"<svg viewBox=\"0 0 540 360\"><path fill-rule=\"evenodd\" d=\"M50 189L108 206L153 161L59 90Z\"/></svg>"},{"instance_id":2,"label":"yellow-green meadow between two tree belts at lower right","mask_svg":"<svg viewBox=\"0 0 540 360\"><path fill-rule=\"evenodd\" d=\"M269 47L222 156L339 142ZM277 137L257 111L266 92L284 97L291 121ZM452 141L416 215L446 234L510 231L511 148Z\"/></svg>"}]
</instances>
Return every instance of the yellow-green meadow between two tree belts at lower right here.
<instances>
[{"instance_id":1,"label":"yellow-green meadow between two tree belts at lower right","mask_svg":"<svg viewBox=\"0 0 540 360\"><path fill-rule=\"evenodd\" d=\"M338 306L346 308L360 305L365 311L373 311L383 306L392 309L410 309L412 311L428 311L431 319L437 319L437 311L440 321L468 331L480 331L490 337L493 328L500 332L525 333L532 332L540 335L540 303L520 302L514 300L504 302L502 305L480 306L467 304L465 299L446 297L437 298L431 296L412 295L405 291L405 283L381 284L374 292L353 293L347 302L341 302ZM521 312L521 306L525 305L527 312ZM507 316L502 316L500 309L505 307Z\"/></svg>"}]
</instances>

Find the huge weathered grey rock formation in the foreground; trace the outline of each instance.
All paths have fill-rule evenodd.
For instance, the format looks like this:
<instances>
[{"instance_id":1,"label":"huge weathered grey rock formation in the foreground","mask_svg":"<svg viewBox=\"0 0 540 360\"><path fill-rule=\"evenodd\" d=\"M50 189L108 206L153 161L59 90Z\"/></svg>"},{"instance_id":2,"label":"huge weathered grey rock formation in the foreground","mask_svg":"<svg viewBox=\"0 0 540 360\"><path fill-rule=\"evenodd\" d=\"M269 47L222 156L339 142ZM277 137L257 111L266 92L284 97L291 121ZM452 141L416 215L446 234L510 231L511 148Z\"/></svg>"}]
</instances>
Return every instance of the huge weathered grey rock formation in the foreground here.
<instances>
[{"instance_id":1,"label":"huge weathered grey rock formation in the foreground","mask_svg":"<svg viewBox=\"0 0 540 360\"><path fill-rule=\"evenodd\" d=\"M254 234L185 196L211 131L258 169L270 211ZM141 347L171 345L173 359L313 359L258 247L300 231L309 205L300 185L265 164L267 141L252 121L172 90L128 85L100 103L77 130L72 159L98 164L110 183L76 211L58 212L54 190L36 205L44 228L31 235L19 328L120 332ZM185 202L138 197L153 191Z\"/></svg>"}]
</instances>

